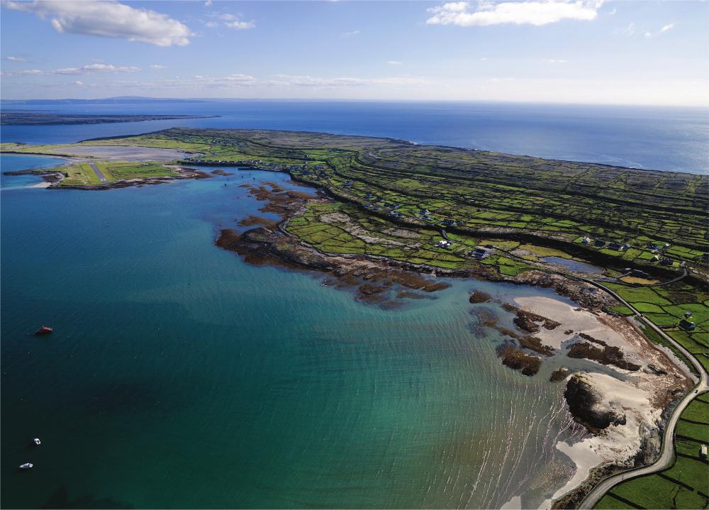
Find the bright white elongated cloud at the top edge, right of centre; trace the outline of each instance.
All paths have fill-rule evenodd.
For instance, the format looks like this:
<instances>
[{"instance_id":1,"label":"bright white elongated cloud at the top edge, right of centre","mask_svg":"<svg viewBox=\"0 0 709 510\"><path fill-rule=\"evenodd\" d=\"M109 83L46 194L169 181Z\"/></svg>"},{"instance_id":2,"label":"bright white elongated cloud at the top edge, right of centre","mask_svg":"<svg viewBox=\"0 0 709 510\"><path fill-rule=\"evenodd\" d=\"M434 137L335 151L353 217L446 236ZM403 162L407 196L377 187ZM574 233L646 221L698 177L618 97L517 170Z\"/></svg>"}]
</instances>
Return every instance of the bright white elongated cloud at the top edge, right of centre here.
<instances>
[{"instance_id":1,"label":"bright white elongated cloud at the top edge, right of centre","mask_svg":"<svg viewBox=\"0 0 709 510\"><path fill-rule=\"evenodd\" d=\"M456 1L428 9L433 16L428 25L489 26L501 23L542 26L564 19L591 21L598 15L603 0L480 1L471 7Z\"/></svg>"}]
</instances>

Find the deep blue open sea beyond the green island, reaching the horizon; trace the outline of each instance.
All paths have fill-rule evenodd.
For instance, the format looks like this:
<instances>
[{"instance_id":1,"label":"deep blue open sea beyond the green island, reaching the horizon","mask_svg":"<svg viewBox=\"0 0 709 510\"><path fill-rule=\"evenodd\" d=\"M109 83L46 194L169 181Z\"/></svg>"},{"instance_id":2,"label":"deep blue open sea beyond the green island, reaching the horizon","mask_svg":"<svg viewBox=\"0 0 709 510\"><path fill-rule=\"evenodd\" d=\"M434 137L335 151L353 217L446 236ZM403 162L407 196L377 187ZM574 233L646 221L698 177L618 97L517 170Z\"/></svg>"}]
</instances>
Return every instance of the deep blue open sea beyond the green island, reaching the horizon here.
<instances>
[{"instance_id":1,"label":"deep blue open sea beyond the green island, reaching the horizon","mask_svg":"<svg viewBox=\"0 0 709 510\"><path fill-rule=\"evenodd\" d=\"M27 106L4 106L27 109ZM474 102L208 101L33 106L63 113L219 115L182 121L84 126L3 126L6 142L66 143L172 126L323 131L416 143L709 173L709 110Z\"/></svg>"}]
</instances>

